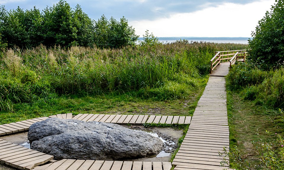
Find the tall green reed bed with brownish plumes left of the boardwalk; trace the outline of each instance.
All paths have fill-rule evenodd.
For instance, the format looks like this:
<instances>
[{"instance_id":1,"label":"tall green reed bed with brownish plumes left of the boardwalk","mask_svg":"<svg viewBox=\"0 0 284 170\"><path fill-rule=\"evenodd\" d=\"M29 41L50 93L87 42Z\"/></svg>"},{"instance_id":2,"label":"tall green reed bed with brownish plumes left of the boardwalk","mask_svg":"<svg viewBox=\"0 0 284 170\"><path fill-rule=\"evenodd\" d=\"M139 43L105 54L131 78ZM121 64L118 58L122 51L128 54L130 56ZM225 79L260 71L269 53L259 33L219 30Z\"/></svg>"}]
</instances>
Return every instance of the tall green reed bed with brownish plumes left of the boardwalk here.
<instances>
[{"instance_id":1,"label":"tall green reed bed with brownish plumes left of the boardwalk","mask_svg":"<svg viewBox=\"0 0 284 170\"><path fill-rule=\"evenodd\" d=\"M187 43L98 49L73 46L7 50L0 59L0 109L58 95L137 92L143 98L186 98L209 73L215 51L243 44Z\"/></svg>"}]
</instances>

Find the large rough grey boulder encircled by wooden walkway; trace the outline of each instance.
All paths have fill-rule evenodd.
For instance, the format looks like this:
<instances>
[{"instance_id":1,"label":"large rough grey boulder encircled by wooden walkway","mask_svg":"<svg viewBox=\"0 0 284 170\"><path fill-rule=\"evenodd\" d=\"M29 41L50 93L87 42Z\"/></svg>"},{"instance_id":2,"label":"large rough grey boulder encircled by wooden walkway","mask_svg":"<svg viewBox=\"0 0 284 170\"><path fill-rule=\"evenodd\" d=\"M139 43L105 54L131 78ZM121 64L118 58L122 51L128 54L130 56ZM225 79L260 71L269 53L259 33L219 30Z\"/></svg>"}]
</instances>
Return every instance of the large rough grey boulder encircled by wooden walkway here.
<instances>
[{"instance_id":1,"label":"large rough grey boulder encircled by wooden walkway","mask_svg":"<svg viewBox=\"0 0 284 170\"><path fill-rule=\"evenodd\" d=\"M30 126L30 148L55 159L117 160L159 153L163 142L117 124L49 118Z\"/></svg>"}]
</instances>

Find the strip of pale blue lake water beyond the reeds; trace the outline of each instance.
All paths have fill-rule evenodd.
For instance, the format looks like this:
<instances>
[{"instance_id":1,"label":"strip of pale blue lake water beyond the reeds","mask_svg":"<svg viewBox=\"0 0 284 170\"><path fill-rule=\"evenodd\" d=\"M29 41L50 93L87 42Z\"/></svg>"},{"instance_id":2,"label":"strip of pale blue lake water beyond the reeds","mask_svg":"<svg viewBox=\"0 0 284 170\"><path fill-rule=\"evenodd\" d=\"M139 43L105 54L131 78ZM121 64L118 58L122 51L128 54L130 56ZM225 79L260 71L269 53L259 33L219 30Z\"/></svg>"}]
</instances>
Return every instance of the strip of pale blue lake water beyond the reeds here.
<instances>
[{"instance_id":1,"label":"strip of pale blue lake water beyond the reeds","mask_svg":"<svg viewBox=\"0 0 284 170\"><path fill-rule=\"evenodd\" d=\"M162 43L173 43L178 40L188 40L196 41L196 42L212 42L212 43L240 43L247 44L249 37L157 37ZM143 38L138 38L139 40L143 40Z\"/></svg>"}]
</instances>

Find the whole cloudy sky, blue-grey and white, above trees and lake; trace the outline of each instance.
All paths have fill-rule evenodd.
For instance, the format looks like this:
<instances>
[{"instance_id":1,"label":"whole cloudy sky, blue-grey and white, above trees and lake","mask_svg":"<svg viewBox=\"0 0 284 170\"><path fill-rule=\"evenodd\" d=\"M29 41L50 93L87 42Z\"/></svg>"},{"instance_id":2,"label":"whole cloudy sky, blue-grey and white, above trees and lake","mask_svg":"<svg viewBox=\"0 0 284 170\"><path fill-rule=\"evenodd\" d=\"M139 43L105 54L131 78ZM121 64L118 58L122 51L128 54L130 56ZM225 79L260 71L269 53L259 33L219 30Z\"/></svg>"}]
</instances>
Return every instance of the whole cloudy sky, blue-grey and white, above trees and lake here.
<instances>
[{"instance_id":1,"label":"whole cloudy sky, blue-grey and white, above trees and lake","mask_svg":"<svg viewBox=\"0 0 284 170\"><path fill-rule=\"evenodd\" d=\"M59 0L58 0L59 1ZM51 7L58 1L0 0L6 9ZM157 37L250 37L275 0L67 0L91 19L124 16L136 34Z\"/></svg>"}]
</instances>

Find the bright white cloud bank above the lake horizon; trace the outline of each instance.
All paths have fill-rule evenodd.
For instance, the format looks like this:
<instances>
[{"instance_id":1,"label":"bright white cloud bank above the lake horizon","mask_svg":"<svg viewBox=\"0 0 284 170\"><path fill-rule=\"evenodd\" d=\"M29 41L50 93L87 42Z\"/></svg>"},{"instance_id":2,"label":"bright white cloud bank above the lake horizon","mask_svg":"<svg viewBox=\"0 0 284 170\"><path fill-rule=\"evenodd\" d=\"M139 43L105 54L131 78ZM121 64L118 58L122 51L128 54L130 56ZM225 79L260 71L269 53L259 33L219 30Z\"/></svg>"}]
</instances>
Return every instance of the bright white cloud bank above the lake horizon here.
<instances>
[{"instance_id":1,"label":"bright white cloud bank above the lake horizon","mask_svg":"<svg viewBox=\"0 0 284 170\"><path fill-rule=\"evenodd\" d=\"M217 7L173 14L154 21L130 22L136 34L146 30L157 37L250 37L258 21L270 10L275 0L262 0L250 4L225 3ZM207 6L207 5L206 5Z\"/></svg>"}]
</instances>

